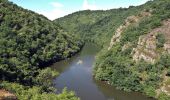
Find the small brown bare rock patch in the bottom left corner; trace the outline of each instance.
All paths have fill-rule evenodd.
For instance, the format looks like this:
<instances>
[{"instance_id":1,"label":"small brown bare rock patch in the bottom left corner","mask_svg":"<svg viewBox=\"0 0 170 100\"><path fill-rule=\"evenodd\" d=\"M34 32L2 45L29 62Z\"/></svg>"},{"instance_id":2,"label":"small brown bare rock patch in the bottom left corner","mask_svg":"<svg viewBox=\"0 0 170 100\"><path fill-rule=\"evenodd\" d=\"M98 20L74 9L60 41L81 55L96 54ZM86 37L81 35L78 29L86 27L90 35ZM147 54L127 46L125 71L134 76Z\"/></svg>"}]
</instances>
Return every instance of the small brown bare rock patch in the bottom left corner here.
<instances>
[{"instance_id":1,"label":"small brown bare rock patch in the bottom left corner","mask_svg":"<svg viewBox=\"0 0 170 100\"><path fill-rule=\"evenodd\" d=\"M0 100L17 100L17 97L6 90L0 90Z\"/></svg>"}]
</instances>

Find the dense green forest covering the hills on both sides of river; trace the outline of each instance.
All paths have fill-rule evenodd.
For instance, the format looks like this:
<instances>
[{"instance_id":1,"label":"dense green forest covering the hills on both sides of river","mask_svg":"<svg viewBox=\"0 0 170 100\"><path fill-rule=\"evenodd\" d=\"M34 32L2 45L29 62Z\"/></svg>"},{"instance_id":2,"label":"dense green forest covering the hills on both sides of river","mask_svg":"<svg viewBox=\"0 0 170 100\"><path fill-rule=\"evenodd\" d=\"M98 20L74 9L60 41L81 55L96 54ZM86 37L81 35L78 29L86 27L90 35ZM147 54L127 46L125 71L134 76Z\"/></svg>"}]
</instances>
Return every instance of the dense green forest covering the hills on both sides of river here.
<instances>
[{"instance_id":1,"label":"dense green forest covering the hills on both sides of river","mask_svg":"<svg viewBox=\"0 0 170 100\"><path fill-rule=\"evenodd\" d=\"M170 55L164 50L170 37L158 31L168 25L168 19L169 0L106 11L79 11L55 21L0 0L0 88L21 100L79 100L67 89L55 94L51 80L59 73L46 67L73 56L88 41L102 47L94 64L95 79L117 89L169 100L168 93L161 89L170 85ZM111 45L118 29L122 29L119 40ZM150 40L149 46L146 40L142 47L140 42L145 38ZM135 52L139 51L152 62L138 60Z\"/></svg>"}]
</instances>

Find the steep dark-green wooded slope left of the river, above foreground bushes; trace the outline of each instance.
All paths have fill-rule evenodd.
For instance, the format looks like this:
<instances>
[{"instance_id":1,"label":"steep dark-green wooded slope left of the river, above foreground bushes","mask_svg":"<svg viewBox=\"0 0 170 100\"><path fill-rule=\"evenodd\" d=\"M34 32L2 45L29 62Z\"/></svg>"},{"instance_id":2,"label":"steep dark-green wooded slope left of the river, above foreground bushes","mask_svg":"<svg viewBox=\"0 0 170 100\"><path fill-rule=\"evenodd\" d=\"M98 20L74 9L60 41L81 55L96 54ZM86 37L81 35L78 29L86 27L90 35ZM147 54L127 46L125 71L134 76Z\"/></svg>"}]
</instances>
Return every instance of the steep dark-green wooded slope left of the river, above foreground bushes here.
<instances>
[{"instance_id":1,"label":"steep dark-green wooded slope left of the river, above foreground bushes","mask_svg":"<svg viewBox=\"0 0 170 100\"><path fill-rule=\"evenodd\" d=\"M12 76L13 80L25 80L24 76L33 74L38 67L80 50L82 44L78 36L67 33L41 15L6 0L1 0L0 15L0 70L4 75L1 74L1 79ZM25 70L30 72L25 73Z\"/></svg>"}]
</instances>

